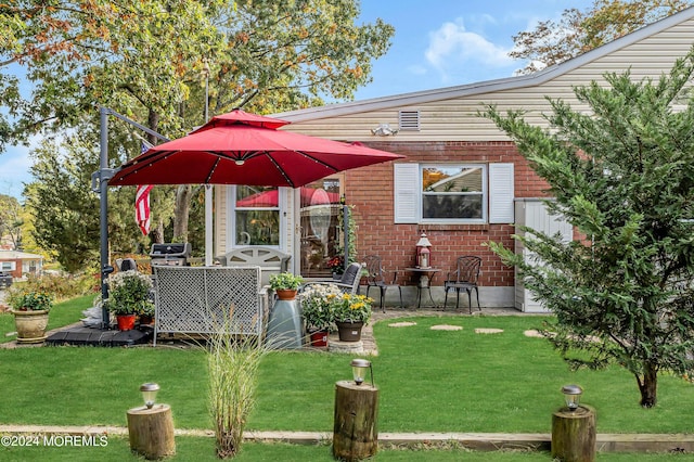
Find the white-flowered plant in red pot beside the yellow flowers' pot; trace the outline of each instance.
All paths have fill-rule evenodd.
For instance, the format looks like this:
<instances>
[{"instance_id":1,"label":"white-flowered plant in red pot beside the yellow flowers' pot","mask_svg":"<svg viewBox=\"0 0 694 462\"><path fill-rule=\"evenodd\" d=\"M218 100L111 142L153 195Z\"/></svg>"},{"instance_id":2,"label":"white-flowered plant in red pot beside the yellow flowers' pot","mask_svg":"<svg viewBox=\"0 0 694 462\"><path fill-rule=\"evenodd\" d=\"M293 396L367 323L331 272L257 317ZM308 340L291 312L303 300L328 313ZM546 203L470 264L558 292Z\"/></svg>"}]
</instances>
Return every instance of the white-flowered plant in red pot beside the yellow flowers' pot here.
<instances>
[{"instance_id":1,"label":"white-flowered plant in red pot beside the yellow flowers' pot","mask_svg":"<svg viewBox=\"0 0 694 462\"><path fill-rule=\"evenodd\" d=\"M309 283L301 291L301 316L312 346L327 346L327 333L335 325L331 299L339 295L342 291L335 284Z\"/></svg>"}]
</instances>

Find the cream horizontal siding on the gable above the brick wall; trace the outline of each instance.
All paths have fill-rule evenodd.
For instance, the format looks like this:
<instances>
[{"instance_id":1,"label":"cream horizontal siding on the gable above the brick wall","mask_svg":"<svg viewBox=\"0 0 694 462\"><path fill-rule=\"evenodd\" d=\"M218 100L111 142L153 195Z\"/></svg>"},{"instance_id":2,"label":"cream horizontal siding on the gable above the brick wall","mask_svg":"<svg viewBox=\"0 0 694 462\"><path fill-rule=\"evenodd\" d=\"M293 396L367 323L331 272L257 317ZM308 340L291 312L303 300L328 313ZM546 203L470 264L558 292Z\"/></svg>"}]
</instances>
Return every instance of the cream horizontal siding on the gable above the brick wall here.
<instances>
[{"instance_id":1,"label":"cream horizontal siding on the gable above the brick wall","mask_svg":"<svg viewBox=\"0 0 694 462\"><path fill-rule=\"evenodd\" d=\"M686 13L685 13L686 15ZM669 73L674 61L692 47L694 17L672 24L677 17L654 24L634 35L625 36L589 53L532 76L518 76L471 85L447 87L426 92L333 104L319 108L278 115L294 123L286 128L343 141L374 141L371 129L380 124L398 126L402 112L419 112L420 131L400 130L401 141L509 141L491 120L478 117L486 104L501 113L523 110L526 120L547 127L543 113L551 107L545 97L562 99L576 110L584 110L573 87L597 81L606 85L605 73L630 70L633 80L657 79ZM661 26L669 23L668 27Z\"/></svg>"}]
</instances>

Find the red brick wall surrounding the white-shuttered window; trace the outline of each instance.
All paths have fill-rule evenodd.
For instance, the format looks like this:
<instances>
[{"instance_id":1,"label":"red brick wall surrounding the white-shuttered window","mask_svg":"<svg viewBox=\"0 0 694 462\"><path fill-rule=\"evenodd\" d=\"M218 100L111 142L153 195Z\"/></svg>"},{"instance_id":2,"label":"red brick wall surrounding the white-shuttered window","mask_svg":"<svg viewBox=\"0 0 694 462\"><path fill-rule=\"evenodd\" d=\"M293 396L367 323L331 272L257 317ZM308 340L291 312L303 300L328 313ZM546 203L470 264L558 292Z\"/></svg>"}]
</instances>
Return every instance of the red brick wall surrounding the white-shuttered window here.
<instances>
[{"instance_id":1,"label":"red brick wall surrounding the white-shuttered window","mask_svg":"<svg viewBox=\"0 0 694 462\"><path fill-rule=\"evenodd\" d=\"M513 163L515 164L515 196L539 197L547 184L528 166L511 142L398 142L368 143L370 146L407 156L402 162L416 163ZM415 244L425 231L432 242L432 266L441 272L434 280L441 285L457 257L481 257L484 286L513 286L513 268L504 266L486 244L502 242L513 248L510 224L395 224L393 197L393 164L380 164L349 170L346 175L347 203L354 205L358 226L360 258L377 254L387 269L414 266ZM415 277L404 273L400 282L415 284Z\"/></svg>"}]
</instances>

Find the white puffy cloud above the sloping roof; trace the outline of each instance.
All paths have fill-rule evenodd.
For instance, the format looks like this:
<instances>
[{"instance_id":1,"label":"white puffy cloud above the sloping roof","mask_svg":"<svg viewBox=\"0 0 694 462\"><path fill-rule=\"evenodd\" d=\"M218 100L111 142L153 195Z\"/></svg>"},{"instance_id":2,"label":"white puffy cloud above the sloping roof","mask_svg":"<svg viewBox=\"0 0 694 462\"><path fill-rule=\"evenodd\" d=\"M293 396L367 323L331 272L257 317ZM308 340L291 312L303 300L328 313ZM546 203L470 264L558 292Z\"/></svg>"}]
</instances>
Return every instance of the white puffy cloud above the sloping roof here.
<instances>
[{"instance_id":1,"label":"white puffy cloud above the sloping roof","mask_svg":"<svg viewBox=\"0 0 694 462\"><path fill-rule=\"evenodd\" d=\"M503 68L514 63L509 57L507 49L466 30L462 18L454 23L446 22L437 30L429 33L425 56L445 79L462 67Z\"/></svg>"}]
</instances>

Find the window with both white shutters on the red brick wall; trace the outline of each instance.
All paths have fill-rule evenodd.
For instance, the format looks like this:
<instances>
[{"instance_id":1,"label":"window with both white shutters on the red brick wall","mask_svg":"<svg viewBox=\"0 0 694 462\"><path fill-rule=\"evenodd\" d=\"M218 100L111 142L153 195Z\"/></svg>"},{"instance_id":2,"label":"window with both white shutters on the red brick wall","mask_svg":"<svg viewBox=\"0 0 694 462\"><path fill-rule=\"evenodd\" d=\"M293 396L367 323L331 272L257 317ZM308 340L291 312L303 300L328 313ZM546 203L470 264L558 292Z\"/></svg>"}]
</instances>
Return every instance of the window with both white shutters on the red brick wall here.
<instances>
[{"instance_id":1,"label":"window with both white shutters on the red brick wall","mask_svg":"<svg viewBox=\"0 0 694 462\"><path fill-rule=\"evenodd\" d=\"M396 223L512 223L513 164L394 166Z\"/></svg>"}]
</instances>

